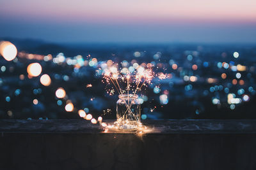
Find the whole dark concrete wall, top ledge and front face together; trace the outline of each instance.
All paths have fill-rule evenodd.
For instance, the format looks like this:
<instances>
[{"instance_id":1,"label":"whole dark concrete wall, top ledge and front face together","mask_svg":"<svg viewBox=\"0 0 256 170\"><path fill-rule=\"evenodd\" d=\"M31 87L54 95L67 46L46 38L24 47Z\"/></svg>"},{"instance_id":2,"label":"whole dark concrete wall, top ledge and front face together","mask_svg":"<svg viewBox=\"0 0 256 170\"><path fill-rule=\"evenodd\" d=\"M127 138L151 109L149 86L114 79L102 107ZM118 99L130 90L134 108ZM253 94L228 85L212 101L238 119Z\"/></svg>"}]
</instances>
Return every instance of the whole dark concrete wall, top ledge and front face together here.
<instances>
[{"instance_id":1,"label":"whole dark concrete wall, top ledge and front face together","mask_svg":"<svg viewBox=\"0 0 256 170\"><path fill-rule=\"evenodd\" d=\"M0 120L0 169L256 169L254 120L145 124L154 132L138 136L81 120Z\"/></svg>"}]
</instances>

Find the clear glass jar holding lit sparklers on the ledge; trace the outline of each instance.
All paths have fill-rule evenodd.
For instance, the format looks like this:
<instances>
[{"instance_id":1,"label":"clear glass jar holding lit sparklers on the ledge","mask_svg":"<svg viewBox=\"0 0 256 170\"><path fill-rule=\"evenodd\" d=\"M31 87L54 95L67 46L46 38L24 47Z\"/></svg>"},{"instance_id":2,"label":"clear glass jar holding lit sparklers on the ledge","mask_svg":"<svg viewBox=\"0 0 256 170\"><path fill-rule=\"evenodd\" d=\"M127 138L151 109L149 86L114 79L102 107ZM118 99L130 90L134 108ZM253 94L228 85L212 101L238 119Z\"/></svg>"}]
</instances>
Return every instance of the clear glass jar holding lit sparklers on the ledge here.
<instances>
[{"instance_id":1,"label":"clear glass jar holding lit sparklers on the ledge","mask_svg":"<svg viewBox=\"0 0 256 170\"><path fill-rule=\"evenodd\" d=\"M140 124L140 102L138 95L121 94L116 102L116 119L119 129L133 130Z\"/></svg>"}]
</instances>

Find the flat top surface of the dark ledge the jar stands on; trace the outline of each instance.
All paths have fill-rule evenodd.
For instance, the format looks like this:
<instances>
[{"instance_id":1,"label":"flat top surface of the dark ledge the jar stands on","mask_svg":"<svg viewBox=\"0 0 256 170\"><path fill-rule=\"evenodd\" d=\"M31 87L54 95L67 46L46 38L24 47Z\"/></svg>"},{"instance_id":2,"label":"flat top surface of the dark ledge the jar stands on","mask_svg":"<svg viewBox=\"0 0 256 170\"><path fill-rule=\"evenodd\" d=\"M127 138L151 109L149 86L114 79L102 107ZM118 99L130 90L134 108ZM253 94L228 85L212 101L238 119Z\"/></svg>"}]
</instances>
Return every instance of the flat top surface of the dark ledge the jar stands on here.
<instances>
[{"instance_id":1,"label":"flat top surface of the dark ledge the jar stands on","mask_svg":"<svg viewBox=\"0 0 256 170\"><path fill-rule=\"evenodd\" d=\"M114 120L104 122L113 124ZM143 124L152 134L256 134L256 120L147 120ZM0 132L90 134L102 133L102 129L86 120L0 120Z\"/></svg>"}]
</instances>

